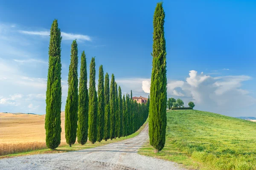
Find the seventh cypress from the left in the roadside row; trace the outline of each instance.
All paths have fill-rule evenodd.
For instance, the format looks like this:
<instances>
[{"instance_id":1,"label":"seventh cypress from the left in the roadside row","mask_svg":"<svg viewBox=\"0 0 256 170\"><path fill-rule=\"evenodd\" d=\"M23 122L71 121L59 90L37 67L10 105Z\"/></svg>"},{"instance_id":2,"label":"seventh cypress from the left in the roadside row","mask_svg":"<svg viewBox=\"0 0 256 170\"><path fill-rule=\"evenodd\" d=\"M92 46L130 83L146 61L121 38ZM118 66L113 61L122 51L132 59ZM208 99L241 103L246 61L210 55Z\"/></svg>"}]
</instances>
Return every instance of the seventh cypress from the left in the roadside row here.
<instances>
[{"instance_id":1,"label":"seventh cypress from the left in the roadside row","mask_svg":"<svg viewBox=\"0 0 256 170\"><path fill-rule=\"evenodd\" d=\"M110 139L115 138L116 130L116 106L115 106L115 77L112 74L110 83Z\"/></svg>"}]
</instances>

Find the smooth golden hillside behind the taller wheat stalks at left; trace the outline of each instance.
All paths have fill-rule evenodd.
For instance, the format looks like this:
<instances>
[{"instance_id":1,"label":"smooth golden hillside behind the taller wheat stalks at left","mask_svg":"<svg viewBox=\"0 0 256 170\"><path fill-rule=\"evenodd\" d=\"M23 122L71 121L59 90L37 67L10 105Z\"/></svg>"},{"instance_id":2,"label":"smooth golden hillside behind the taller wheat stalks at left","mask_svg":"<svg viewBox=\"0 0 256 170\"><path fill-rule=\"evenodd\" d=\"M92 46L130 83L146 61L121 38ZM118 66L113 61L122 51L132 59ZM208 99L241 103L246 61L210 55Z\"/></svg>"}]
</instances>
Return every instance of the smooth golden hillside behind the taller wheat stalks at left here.
<instances>
[{"instance_id":1,"label":"smooth golden hillside behind the taller wheat stalks at left","mask_svg":"<svg viewBox=\"0 0 256 170\"><path fill-rule=\"evenodd\" d=\"M45 141L45 115L0 113L0 143ZM61 112L61 140L65 141L65 114Z\"/></svg>"}]
</instances>

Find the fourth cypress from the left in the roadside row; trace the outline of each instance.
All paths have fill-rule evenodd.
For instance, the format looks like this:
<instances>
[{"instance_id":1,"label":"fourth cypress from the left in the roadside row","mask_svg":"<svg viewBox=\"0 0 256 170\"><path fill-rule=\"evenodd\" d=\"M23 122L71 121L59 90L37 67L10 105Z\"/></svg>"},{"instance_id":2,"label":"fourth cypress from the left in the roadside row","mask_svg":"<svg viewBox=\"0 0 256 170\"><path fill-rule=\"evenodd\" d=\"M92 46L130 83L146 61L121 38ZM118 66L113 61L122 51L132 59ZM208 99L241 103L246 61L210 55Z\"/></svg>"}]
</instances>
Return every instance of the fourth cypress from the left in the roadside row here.
<instances>
[{"instance_id":1,"label":"fourth cypress from the left in the roadside row","mask_svg":"<svg viewBox=\"0 0 256 170\"><path fill-rule=\"evenodd\" d=\"M89 121L88 121L88 139L92 144L97 140L97 92L95 88L95 58L90 63L90 80L89 80Z\"/></svg>"}]
</instances>

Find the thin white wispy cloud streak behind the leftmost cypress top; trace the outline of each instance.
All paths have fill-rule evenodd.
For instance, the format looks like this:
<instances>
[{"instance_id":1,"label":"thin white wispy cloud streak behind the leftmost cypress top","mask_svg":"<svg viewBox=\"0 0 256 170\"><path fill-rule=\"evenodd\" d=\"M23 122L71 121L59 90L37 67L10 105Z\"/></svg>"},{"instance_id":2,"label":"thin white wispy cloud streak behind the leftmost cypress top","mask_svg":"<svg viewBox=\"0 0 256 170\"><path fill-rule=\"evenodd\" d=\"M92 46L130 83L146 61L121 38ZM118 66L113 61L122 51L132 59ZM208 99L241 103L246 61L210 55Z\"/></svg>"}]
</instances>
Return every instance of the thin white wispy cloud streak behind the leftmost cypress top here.
<instances>
[{"instance_id":1,"label":"thin white wispy cloud streak behind the leftmost cypress top","mask_svg":"<svg viewBox=\"0 0 256 170\"><path fill-rule=\"evenodd\" d=\"M24 30L19 30L18 32L26 35L39 35L39 36L49 36L50 32L49 31L24 31ZM86 40L86 41L91 41L91 37L88 35L81 35L81 34L73 34L73 33L66 33L66 32L61 32L62 40Z\"/></svg>"}]
</instances>

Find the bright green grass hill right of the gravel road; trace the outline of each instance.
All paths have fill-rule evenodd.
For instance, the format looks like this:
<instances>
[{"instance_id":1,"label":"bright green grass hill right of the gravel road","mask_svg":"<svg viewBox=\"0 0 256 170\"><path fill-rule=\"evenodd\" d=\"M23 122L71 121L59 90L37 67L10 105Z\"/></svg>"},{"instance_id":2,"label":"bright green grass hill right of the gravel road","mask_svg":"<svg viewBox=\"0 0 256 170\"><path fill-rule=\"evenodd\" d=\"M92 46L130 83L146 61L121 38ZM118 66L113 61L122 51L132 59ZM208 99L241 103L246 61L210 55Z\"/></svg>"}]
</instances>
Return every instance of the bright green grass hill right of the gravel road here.
<instances>
[{"instance_id":1,"label":"bright green grass hill right of the gravel road","mask_svg":"<svg viewBox=\"0 0 256 170\"><path fill-rule=\"evenodd\" d=\"M198 110L167 111L166 145L154 154L200 170L256 170L256 123Z\"/></svg>"}]
</instances>

